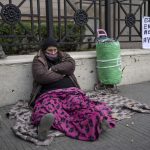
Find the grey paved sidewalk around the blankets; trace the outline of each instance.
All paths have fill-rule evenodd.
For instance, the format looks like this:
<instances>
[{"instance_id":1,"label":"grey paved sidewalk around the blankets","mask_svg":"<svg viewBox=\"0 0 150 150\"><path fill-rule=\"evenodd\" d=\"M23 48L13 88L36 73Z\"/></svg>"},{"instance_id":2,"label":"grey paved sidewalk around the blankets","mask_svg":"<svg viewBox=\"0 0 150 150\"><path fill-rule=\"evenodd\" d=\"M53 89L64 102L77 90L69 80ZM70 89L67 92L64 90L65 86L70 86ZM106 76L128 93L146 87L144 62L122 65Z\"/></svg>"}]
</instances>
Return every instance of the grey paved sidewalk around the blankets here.
<instances>
[{"instance_id":1,"label":"grey paved sidewalk around the blankets","mask_svg":"<svg viewBox=\"0 0 150 150\"><path fill-rule=\"evenodd\" d=\"M120 95L150 105L150 82L120 86ZM10 129L11 121L5 113L10 108L1 107L3 118L0 128L0 150L149 150L150 114L136 113L130 119L117 122L114 129L107 130L95 142L85 142L69 137L58 137L50 146L37 147L14 136ZM4 130L3 130L4 127Z\"/></svg>"}]
</instances>

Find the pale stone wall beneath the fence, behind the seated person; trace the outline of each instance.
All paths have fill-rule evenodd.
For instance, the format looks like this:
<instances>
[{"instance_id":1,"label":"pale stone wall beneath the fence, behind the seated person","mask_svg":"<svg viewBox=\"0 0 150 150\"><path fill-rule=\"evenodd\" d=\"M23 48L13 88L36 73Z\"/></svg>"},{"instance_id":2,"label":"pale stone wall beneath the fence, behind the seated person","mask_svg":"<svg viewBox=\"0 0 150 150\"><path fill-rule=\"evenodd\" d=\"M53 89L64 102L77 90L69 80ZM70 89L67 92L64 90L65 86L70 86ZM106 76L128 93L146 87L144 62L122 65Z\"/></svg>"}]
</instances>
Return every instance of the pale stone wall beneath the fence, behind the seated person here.
<instances>
[{"instance_id":1,"label":"pale stone wall beneath the fence, behind the seated person","mask_svg":"<svg viewBox=\"0 0 150 150\"><path fill-rule=\"evenodd\" d=\"M75 75L85 91L97 83L96 53L72 52L76 60ZM0 106L28 100L32 89L31 63L34 55L9 56L0 60ZM120 85L150 81L150 50L122 50L123 76Z\"/></svg>"}]
</instances>

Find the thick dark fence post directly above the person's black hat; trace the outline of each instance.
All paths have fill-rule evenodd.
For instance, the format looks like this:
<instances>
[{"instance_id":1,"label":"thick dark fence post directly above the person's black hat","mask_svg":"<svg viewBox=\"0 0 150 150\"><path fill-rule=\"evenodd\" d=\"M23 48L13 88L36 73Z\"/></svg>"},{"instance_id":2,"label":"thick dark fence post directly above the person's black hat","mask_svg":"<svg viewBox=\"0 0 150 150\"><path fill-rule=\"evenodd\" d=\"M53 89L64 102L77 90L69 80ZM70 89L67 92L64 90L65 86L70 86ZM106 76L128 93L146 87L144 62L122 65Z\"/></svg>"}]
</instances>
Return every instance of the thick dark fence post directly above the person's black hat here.
<instances>
[{"instance_id":1,"label":"thick dark fence post directly above the person's black hat","mask_svg":"<svg viewBox=\"0 0 150 150\"><path fill-rule=\"evenodd\" d=\"M46 0L46 27L48 38L53 37L53 0Z\"/></svg>"}]
</instances>

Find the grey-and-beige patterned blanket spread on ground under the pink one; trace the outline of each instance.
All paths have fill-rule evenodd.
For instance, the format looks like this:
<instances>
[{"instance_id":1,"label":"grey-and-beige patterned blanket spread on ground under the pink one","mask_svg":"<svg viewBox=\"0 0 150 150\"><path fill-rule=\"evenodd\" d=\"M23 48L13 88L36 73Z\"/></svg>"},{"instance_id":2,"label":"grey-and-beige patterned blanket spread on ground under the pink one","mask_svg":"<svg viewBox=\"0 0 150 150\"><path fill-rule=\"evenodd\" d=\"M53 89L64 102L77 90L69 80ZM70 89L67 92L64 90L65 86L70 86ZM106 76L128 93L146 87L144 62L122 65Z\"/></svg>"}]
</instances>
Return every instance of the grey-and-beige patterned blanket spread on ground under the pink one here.
<instances>
[{"instance_id":1,"label":"grey-and-beige patterned blanket spread on ground under the pink one","mask_svg":"<svg viewBox=\"0 0 150 150\"><path fill-rule=\"evenodd\" d=\"M87 92L87 96L91 100L107 103L112 109L113 118L116 120L130 118L135 112L150 113L150 106L118 94L110 94L107 91ZM27 101L23 100L19 100L9 111L9 118L16 120L12 130L17 136L36 145L49 145L54 137L64 136L59 131L50 130L48 139L43 142L39 141L37 139L37 127L31 124L31 113Z\"/></svg>"}]
</instances>

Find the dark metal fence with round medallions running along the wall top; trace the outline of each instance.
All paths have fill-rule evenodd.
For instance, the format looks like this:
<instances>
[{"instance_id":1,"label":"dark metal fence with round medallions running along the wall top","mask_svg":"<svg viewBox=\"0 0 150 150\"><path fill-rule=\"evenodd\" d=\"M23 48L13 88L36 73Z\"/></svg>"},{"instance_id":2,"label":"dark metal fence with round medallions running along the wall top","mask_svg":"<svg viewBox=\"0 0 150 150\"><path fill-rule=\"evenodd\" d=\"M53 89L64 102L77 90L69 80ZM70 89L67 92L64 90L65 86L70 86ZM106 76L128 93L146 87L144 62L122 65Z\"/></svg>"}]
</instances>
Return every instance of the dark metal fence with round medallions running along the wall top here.
<instances>
[{"instance_id":1,"label":"dark metal fence with round medallions running along the wall top","mask_svg":"<svg viewBox=\"0 0 150 150\"><path fill-rule=\"evenodd\" d=\"M91 48L98 28L141 42L142 16L150 16L149 0L0 0L0 44L6 53L27 53L53 36L73 51Z\"/></svg>"}]
</instances>

